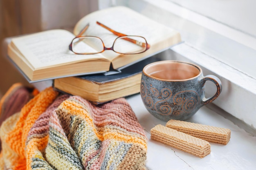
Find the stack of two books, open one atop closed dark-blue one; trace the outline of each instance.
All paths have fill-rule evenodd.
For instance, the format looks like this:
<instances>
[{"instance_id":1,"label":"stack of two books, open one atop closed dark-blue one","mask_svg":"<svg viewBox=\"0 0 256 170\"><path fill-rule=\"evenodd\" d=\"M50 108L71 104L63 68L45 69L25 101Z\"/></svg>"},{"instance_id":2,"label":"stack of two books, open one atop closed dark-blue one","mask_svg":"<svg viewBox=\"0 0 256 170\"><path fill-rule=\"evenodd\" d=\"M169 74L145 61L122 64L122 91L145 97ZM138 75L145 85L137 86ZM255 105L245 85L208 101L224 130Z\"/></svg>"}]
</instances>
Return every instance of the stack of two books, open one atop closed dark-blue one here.
<instances>
[{"instance_id":1,"label":"stack of two books, open one atop closed dark-blue one","mask_svg":"<svg viewBox=\"0 0 256 170\"><path fill-rule=\"evenodd\" d=\"M119 33L144 37L150 48L138 54L106 50L81 55L70 51L70 42L87 24L83 35L99 37L107 48L112 46L118 36L97 21ZM103 103L139 93L143 67L162 60L155 55L180 42L179 32L119 6L86 15L77 22L73 33L55 29L12 38L8 57L30 83L51 79L59 91Z\"/></svg>"}]
</instances>

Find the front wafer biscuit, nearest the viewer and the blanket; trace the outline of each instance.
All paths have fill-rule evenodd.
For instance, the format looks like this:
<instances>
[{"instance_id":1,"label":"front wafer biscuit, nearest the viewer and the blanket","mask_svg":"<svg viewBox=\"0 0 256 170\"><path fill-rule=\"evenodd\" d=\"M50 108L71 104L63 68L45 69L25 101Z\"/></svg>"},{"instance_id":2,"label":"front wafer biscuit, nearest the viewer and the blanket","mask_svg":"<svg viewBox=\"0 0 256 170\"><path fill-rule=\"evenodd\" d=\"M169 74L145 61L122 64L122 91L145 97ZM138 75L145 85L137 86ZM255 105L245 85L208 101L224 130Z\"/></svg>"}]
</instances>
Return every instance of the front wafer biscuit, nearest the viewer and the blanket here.
<instances>
[{"instance_id":1,"label":"front wafer biscuit, nearest the viewer and the blanket","mask_svg":"<svg viewBox=\"0 0 256 170\"><path fill-rule=\"evenodd\" d=\"M193 137L160 124L152 128L150 133L151 139L200 158L203 158L211 153L211 146L208 141Z\"/></svg>"}]
</instances>

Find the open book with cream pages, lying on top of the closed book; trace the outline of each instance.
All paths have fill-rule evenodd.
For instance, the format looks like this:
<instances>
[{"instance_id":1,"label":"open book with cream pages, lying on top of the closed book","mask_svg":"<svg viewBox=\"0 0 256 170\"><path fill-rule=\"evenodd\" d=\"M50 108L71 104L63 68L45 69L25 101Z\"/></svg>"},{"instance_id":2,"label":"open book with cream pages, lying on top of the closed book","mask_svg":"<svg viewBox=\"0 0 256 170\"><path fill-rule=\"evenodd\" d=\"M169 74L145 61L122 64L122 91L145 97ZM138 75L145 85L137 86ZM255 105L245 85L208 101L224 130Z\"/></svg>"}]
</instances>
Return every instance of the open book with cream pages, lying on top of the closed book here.
<instances>
[{"instance_id":1,"label":"open book with cream pages, lying on top of the closed book","mask_svg":"<svg viewBox=\"0 0 256 170\"><path fill-rule=\"evenodd\" d=\"M119 33L144 37L150 48L139 54L119 54L106 50L98 54L81 55L70 51L69 44L87 24L90 25L84 36L97 36L107 48L112 46L117 35L99 26L97 21ZM104 73L110 69L121 70L181 42L177 31L122 6L86 15L77 22L73 32L55 29L12 38L8 56L29 82L38 82Z\"/></svg>"}]
</instances>

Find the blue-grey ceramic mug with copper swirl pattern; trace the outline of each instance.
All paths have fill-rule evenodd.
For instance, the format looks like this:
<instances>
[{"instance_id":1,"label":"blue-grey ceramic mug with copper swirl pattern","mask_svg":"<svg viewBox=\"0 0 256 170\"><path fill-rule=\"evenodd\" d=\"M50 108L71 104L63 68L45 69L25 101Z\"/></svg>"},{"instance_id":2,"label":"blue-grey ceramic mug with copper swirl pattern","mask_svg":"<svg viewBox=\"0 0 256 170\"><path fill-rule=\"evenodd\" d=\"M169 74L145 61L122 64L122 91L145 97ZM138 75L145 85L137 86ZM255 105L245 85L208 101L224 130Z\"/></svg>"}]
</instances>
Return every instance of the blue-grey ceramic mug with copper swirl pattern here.
<instances>
[{"instance_id":1,"label":"blue-grey ceramic mug with copper swirl pattern","mask_svg":"<svg viewBox=\"0 0 256 170\"><path fill-rule=\"evenodd\" d=\"M206 99L204 86L207 80L216 84L217 91ZM188 62L153 62L142 71L141 99L148 112L163 121L188 119L200 107L215 100L221 91L218 77L203 76L199 66Z\"/></svg>"}]
</instances>

